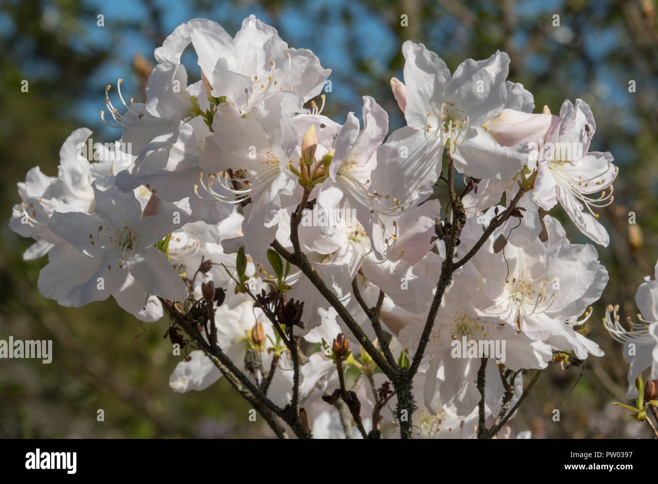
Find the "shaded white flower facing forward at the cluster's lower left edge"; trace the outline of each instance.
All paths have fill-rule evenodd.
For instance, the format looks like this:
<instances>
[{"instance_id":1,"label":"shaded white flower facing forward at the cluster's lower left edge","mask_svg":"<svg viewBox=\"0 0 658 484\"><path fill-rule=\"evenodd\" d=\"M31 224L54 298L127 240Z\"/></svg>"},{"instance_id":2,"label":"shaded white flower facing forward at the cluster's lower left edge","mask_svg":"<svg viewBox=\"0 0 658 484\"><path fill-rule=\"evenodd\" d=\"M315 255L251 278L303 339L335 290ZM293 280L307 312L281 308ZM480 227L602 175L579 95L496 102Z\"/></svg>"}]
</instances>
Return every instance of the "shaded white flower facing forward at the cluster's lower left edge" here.
<instances>
[{"instance_id":1,"label":"shaded white flower facing forward at the cluster's lower left edge","mask_svg":"<svg viewBox=\"0 0 658 484\"><path fill-rule=\"evenodd\" d=\"M41 293L77 308L107 299L130 276L135 279L133 294L143 296L142 304L147 294L184 300L185 284L155 247L185 222L184 213L174 213L175 205L161 203L158 215L141 217L134 194L121 194L116 188L104 192L96 184L94 190L96 215L53 213L50 229L72 247L51 254L50 263L39 273Z\"/></svg>"}]
</instances>

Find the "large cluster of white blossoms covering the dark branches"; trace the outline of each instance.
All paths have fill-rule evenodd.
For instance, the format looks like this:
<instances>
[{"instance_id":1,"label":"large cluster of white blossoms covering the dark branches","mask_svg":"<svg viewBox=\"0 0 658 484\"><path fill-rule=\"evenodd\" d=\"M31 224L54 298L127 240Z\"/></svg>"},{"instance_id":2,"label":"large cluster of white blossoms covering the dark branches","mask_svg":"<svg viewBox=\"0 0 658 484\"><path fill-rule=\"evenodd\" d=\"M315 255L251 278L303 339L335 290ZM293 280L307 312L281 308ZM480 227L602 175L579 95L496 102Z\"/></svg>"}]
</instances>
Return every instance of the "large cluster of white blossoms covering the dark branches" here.
<instances>
[{"instance_id":1,"label":"large cluster of white blossoms covering the dark branches","mask_svg":"<svg viewBox=\"0 0 658 484\"><path fill-rule=\"evenodd\" d=\"M188 85L180 60L190 44L201 80ZM130 152L105 149L89 163L81 147L91 132L81 128L64 143L57 176L36 167L18 184L10 225L36 239L26 259L48 257L39 290L75 307L113 296L142 321L160 319L164 302L198 319L199 301L206 310L213 304L202 284L213 281L226 298L213 304L216 332L199 334L278 406L296 393L295 361L267 308L271 302L281 314L284 303L303 303L285 331L305 341L295 398L316 436L344 435L320 398L340 389L338 368L365 376L355 385L360 412L369 417L379 407L381 417L365 419L367 431L392 435L401 423L395 385L388 390L391 379L338 305L398 368L423 345L413 419L425 437L474 435L476 350L489 342L488 418L509 390L503 370L542 369L554 352L601 356L578 327L607 271L594 246L572 244L557 219L540 215L560 203L583 234L609 242L595 210L612 202L617 167L610 153L589 151L590 108L578 99L557 116L532 113L532 94L507 81L503 52L467 59L451 74L424 45L402 49L404 83L391 85L407 125L389 134L388 114L369 96L363 126L354 113L343 124L322 115L330 70L257 18L245 18L234 38L210 20L182 24L155 50L145 103L127 103L120 80L116 95L107 87L103 119L122 129L116 146ZM451 191L442 222L436 192L451 190L453 170L467 189L461 197ZM458 211L463 219L451 219ZM294 263L299 257L286 263L274 241L278 254L301 252L320 282ZM447 262L455 270L440 288ZM368 308L377 309L388 341ZM331 344L339 333L351 341L343 356ZM172 389L202 390L222 376L207 353L191 351L178 364ZM512 387L508 405L521 379Z\"/></svg>"}]
</instances>

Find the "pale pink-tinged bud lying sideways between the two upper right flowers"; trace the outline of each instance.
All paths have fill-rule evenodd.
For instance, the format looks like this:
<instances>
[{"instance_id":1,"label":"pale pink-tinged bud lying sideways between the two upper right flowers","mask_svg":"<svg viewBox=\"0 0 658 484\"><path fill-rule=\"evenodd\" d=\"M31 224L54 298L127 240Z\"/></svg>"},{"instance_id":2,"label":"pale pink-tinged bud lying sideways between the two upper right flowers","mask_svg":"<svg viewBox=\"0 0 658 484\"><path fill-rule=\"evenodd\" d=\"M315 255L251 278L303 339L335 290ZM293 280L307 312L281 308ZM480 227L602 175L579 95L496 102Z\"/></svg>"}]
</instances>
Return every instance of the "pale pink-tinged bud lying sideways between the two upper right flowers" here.
<instances>
[{"instance_id":1,"label":"pale pink-tinged bud lying sideways between the two upper right flowers","mask_svg":"<svg viewBox=\"0 0 658 484\"><path fill-rule=\"evenodd\" d=\"M557 116L550 114L503 109L499 115L486 121L482 126L500 146L515 146L524 142L545 141L557 119Z\"/></svg>"}]
</instances>

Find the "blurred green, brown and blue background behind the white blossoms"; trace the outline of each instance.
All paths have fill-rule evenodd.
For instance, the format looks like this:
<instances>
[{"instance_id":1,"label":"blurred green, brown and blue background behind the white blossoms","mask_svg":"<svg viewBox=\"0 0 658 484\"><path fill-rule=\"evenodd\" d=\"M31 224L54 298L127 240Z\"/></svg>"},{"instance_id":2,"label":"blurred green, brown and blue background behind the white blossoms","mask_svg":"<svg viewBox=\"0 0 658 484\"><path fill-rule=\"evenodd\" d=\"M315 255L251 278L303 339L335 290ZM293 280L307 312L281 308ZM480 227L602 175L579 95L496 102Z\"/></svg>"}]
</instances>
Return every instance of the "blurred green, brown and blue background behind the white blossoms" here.
<instances>
[{"instance_id":1,"label":"blurred green, brown and blue background behind the white blossoms","mask_svg":"<svg viewBox=\"0 0 658 484\"><path fill-rule=\"evenodd\" d=\"M402 78L403 41L425 43L451 70L468 57L507 51L509 79L534 94L536 109L548 105L558 113L564 99L577 97L590 104L597 121L592 149L611 151L620 167L615 203L599 219L611 232L610 246L597 247L610 282L587 324L607 355L586 361L571 392L581 369L551 365L512 426L538 438L649 437L645 425L611 405L623 401L628 366L601 317L607 304L620 304L622 317L636 314L635 291L658 256L657 7L651 0L0 0L5 220L20 201L16 182L30 167L57 174L59 148L72 130L91 128L94 142L120 136L99 117L105 86L123 78L124 92L143 101L153 49L191 18L211 18L233 35L256 14L333 70L324 114L339 122L348 111L360 115L368 94L390 113L392 130L403 125L389 88L392 76ZM97 25L99 14L104 26ZM190 52L184 61L190 82L198 80ZM28 93L20 92L22 80ZM586 242L559 206L551 215L565 222L572 242ZM41 296L45 259L23 261L30 244L0 225L0 338L52 339L53 363L0 360L0 437L272 435L249 423L247 404L223 380L203 392L169 389L180 358L163 338L164 319L142 328L112 299L69 309ZM558 405L561 420L554 422Z\"/></svg>"}]
</instances>

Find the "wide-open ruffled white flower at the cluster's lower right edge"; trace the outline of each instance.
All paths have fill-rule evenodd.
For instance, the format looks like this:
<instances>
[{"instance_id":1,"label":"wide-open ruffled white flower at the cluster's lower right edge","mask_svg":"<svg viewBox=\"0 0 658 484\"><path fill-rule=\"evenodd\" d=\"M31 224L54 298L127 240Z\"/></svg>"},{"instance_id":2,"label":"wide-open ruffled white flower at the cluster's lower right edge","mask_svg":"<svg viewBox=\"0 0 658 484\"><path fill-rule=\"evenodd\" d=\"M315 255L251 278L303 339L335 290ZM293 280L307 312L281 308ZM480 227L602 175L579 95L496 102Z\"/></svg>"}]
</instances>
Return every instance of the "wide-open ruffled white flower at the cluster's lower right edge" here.
<instances>
[{"instance_id":1,"label":"wide-open ruffled white flower at the cluster's lower right edge","mask_svg":"<svg viewBox=\"0 0 658 484\"><path fill-rule=\"evenodd\" d=\"M498 254L483 250L476 256L474 264L486 279L486 294L493 303L478 305L476 312L491 321L506 321L556 350L572 349L581 360L588 354L602 356L599 346L572 326L591 315L588 306L601 296L607 271L593 246L571 244L553 217L545 216L544 224L547 242L537 238L522 248L508 243ZM577 321L583 313L585 318Z\"/></svg>"}]
</instances>

